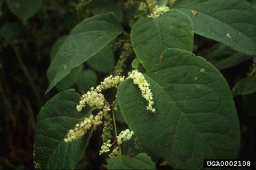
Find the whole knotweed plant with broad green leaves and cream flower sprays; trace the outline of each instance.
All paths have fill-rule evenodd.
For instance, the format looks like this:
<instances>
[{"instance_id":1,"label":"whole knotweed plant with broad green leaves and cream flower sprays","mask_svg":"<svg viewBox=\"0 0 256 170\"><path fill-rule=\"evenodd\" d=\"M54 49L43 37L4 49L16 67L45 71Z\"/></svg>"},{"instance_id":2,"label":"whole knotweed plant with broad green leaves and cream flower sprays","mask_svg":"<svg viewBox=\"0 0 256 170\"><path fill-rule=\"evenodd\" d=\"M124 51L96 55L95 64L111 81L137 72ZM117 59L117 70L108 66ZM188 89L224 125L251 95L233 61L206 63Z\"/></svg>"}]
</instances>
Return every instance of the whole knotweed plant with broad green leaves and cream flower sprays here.
<instances>
[{"instance_id":1,"label":"whole knotweed plant with broad green leaves and cream flower sprays","mask_svg":"<svg viewBox=\"0 0 256 170\"><path fill-rule=\"evenodd\" d=\"M98 169L203 169L203 159L237 157L233 95L256 88L232 93L219 70L256 55L251 4L95 0L77 9L86 18L55 44L47 70L46 94L55 86L61 92L37 118L37 168L79 168L89 160L87 146L101 159ZM197 52L198 37L217 45ZM223 49L232 56L221 58ZM193 54L205 51L207 60ZM255 87L255 62L248 70Z\"/></svg>"}]
</instances>

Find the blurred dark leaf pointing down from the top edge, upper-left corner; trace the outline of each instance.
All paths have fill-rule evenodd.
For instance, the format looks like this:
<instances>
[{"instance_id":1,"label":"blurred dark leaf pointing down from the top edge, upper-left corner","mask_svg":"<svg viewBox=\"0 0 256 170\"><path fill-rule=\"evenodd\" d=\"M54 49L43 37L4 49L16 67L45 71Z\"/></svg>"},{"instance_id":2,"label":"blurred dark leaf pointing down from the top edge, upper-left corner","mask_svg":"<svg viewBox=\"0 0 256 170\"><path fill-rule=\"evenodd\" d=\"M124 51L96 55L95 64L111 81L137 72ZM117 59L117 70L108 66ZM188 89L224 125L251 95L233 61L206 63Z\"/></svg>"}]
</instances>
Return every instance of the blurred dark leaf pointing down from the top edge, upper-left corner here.
<instances>
[{"instance_id":1,"label":"blurred dark leaf pointing down from the top edge, upper-left corner","mask_svg":"<svg viewBox=\"0 0 256 170\"><path fill-rule=\"evenodd\" d=\"M41 0L5 0L10 11L21 21L25 22L33 17L40 9Z\"/></svg>"}]
</instances>

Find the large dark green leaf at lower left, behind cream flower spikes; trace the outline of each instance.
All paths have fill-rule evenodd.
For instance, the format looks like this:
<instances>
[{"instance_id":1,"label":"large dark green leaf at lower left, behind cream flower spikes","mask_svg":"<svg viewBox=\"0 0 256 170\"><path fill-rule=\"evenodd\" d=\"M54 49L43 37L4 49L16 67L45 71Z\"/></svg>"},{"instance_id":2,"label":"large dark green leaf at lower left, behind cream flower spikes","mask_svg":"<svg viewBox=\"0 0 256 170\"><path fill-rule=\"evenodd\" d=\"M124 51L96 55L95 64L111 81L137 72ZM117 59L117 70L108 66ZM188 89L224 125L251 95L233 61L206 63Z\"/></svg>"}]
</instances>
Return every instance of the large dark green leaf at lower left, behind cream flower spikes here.
<instances>
[{"instance_id":1,"label":"large dark green leaf at lower left, behind cream flower spikes","mask_svg":"<svg viewBox=\"0 0 256 170\"><path fill-rule=\"evenodd\" d=\"M35 131L34 163L41 169L73 169L87 147L90 133L71 143L64 138L86 112L77 112L80 96L66 90L51 98L37 117ZM88 114L87 114L88 115Z\"/></svg>"}]
</instances>

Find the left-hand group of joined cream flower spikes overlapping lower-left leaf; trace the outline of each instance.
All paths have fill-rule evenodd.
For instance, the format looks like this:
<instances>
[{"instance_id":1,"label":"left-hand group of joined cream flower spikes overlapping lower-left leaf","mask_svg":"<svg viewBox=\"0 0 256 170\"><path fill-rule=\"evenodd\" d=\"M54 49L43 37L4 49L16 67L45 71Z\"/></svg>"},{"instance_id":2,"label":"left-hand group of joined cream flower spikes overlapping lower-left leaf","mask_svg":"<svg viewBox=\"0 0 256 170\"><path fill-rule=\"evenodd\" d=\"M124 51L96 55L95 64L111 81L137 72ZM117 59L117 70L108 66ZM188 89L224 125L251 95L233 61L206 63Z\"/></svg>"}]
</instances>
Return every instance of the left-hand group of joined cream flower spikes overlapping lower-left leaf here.
<instances>
[{"instance_id":1,"label":"left-hand group of joined cream flower spikes overlapping lower-left leaf","mask_svg":"<svg viewBox=\"0 0 256 170\"><path fill-rule=\"evenodd\" d=\"M91 88L91 91L83 94L81 97L79 105L77 105L77 111L80 112L86 105L91 108L100 110L97 115L91 115L89 118L84 118L79 124L75 125L75 129L70 129L67 133L67 137L64 139L65 142L70 142L76 139L80 139L89 129L95 130L97 126L101 125L103 122L103 118L105 119L105 126L103 129L103 133L105 138L111 137L111 128L109 128L110 121L112 120L109 114L110 106L109 103L105 100L103 94L101 94L102 90L107 90L111 87L117 87L118 84L125 80L124 77L112 75L105 78L99 86L95 89ZM109 137L109 138L110 138ZM105 139L106 140L106 139Z\"/></svg>"}]
</instances>

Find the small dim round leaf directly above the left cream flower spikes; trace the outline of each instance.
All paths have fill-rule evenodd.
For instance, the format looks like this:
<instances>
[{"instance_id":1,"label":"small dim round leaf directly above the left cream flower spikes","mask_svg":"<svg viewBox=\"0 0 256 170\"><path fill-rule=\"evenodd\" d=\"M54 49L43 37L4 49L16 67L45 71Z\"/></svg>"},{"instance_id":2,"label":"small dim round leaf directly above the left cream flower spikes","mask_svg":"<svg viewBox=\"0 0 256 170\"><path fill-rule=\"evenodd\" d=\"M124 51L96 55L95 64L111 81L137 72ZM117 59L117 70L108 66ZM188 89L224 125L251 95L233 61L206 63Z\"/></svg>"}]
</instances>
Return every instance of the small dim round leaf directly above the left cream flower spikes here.
<instances>
[{"instance_id":1,"label":"small dim round leaf directly above the left cream flower spikes","mask_svg":"<svg viewBox=\"0 0 256 170\"><path fill-rule=\"evenodd\" d=\"M87 92L91 89L91 87L95 87L97 85L97 74L91 70L87 69L79 74L79 78L77 80L77 86L79 90L83 92Z\"/></svg>"}]
</instances>

